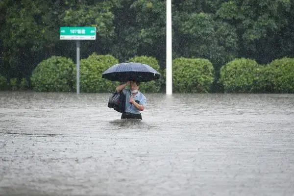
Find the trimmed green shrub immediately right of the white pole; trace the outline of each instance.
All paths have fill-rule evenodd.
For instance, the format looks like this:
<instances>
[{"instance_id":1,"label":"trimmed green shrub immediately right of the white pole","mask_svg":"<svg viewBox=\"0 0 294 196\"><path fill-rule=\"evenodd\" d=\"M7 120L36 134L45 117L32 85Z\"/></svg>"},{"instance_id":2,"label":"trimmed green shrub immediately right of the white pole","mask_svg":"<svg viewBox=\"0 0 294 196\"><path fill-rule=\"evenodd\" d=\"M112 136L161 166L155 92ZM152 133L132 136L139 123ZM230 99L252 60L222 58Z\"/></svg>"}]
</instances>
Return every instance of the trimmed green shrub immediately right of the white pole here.
<instances>
[{"instance_id":1,"label":"trimmed green shrub immediately right of the white pole","mask_svg":"<svg viewBox=\"0 0 294 196\"><path fill-rule=\"evenodd\" d=\"M214 81L212 63L203 58L177 58L172 61L172 86L177 93L207 93Z\"/></svg>"}]
</instances>

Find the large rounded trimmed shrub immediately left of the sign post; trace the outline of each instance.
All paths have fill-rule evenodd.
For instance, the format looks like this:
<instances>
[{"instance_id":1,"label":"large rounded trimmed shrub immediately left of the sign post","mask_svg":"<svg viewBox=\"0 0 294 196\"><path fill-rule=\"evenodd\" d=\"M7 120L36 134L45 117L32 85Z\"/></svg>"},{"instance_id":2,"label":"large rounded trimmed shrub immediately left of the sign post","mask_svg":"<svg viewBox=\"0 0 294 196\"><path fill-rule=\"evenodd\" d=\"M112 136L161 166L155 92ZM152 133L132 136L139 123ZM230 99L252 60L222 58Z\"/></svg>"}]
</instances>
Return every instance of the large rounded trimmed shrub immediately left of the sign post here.
<instances>
[{"instance_id":1,"label":"large rounded trimmed shrub immediately left of the sign post","mask_svg":"<svg viewBox=\"0 0 294 196\"><path fill-rule=\"evenodd\" d=\"M52 56L37 65L31 76L34 91L70 92L73 90L73 60Z\"/></svg>"}]
</instances>

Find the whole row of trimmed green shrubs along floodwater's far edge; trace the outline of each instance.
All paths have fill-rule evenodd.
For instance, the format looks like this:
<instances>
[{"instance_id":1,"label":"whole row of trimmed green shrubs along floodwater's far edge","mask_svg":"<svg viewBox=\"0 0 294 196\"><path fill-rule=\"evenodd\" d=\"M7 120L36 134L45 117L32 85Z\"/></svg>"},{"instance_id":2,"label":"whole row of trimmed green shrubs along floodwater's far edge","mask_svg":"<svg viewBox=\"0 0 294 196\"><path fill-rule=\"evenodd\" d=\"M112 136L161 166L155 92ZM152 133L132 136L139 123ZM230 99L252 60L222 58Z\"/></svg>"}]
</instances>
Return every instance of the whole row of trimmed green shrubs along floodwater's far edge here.
<instances>
[{"instance_id":1,"label":"whole row of trimmed green shrubs along floodwater's far edge","mask_svg":"<svg viewBox=\"0 0 294 196\"><path fill-rule=\"evenodd\" d=\"M160 69L153 57L135 56L130 62L147 64L161 73L161 78L141 83L142 92L165 91L166 71ZM111 55L93 53L80 63L80 90L86 93L114 92L119 82L102 78L102 73L119 63ZM172 84L175 93L209 92L215 72L211 62L202 58L177 58L172 61ZM76 91L76 66L66 57L52 56L38 64L31 76L35 91ZM294 59L282 58L268 65L259 65L251 59L239 58L221 68L219 83L226 93L294 93ZM0 90L26 90L28 81L0 75Z\"/></svg>"}]
</instances>

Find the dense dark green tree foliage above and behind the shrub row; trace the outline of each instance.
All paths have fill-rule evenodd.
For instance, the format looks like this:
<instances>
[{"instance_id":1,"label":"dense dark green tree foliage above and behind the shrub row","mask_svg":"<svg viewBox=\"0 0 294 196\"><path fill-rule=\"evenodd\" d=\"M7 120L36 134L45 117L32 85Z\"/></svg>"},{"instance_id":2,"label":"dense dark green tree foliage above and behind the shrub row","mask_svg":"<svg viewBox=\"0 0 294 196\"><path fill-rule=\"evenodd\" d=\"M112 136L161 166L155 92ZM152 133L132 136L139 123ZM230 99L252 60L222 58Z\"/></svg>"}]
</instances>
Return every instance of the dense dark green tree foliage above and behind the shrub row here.
<instances>
[{"instance_id":1,"label":"dense dark green tree foliage above and behind the shrub row","mask_svg":"<svg viewBox=\"0 0 294 196\"><path fill-rule=\"evenodd\" d=\"M293 24L293 0L172 0L173 59L208 59L218 79L235 58L293 57ZM60 26L97 27L97 39L81 43L81 58L146 55L165 68L166 0L1 0L0 74L29 79L51 56L75 59Z\"/></svg>"}]
</instances>

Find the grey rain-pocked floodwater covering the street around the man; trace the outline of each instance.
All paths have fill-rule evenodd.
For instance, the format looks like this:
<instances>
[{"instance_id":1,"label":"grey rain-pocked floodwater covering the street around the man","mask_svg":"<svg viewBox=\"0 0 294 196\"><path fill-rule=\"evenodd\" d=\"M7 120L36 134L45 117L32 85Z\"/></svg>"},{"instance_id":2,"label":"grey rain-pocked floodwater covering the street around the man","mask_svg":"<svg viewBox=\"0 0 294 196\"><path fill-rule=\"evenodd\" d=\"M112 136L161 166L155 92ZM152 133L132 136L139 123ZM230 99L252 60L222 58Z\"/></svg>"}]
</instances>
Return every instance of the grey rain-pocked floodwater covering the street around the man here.
<instances>
[{"instance_id":1,"label":"grey rain-pocked floodwater covering the street around the man","mask_svg":"<svg viewBox=\"0 0 294 196\"><path fill-rule=\"evenodd\" d=\"M109 96L0 92L0 195L294 195L294 95Z\"/></svg>"}]
</instances>

